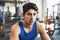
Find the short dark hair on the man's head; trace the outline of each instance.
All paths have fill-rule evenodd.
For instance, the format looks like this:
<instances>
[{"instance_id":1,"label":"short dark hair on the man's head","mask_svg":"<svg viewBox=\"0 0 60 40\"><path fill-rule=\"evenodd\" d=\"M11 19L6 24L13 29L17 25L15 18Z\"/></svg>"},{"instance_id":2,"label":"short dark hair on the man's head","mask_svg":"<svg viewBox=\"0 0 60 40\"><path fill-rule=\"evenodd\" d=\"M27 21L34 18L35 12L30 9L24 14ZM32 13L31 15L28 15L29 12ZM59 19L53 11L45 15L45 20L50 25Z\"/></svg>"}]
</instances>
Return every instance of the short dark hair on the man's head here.
<instances>
[{"instance_id":1,"label":"short dark hair on the man's head","mask_svg":"<svg viewBox=\"0 0 60 40\"><path fill-rule=\"evenodd\" d=\"M38 7L34 3L26 3L23 5L23 13L25 14L29 9L34 9L38 13Z\"/></svg>"}]
</instances>

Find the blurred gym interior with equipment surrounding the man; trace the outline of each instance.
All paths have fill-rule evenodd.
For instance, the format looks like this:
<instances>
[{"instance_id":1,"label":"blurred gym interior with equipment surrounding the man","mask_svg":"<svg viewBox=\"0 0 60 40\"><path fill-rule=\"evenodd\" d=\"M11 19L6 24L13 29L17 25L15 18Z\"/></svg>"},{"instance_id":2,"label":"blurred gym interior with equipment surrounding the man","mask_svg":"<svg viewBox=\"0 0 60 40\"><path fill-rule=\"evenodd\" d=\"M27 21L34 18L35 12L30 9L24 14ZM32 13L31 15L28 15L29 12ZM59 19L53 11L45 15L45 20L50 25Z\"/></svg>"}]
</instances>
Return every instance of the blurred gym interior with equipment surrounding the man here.
<instances>
[{"instance_id":1,"label":"blurred gym interior with equipment surrounding the man","mask_svg":"<svg viewBox=\"0 0 60 40\"><path fill-rule=\"evenodd\" d=\"M60 40L60 0L0 0L0 40L9 40L11 26L23 20L22 6L28 2L37 4L36 20L43 25L51 40ZM37 40L41 40L39 34Z\"/></svg>"}]
</instances>

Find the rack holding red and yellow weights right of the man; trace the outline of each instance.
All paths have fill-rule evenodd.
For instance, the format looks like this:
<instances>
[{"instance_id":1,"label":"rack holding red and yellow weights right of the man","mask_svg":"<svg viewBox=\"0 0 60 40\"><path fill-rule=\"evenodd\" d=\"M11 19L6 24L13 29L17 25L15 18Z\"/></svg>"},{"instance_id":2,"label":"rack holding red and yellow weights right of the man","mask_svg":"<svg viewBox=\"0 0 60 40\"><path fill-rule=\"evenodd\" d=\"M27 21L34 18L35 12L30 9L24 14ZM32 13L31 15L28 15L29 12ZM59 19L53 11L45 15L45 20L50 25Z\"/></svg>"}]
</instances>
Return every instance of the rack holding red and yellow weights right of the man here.
<instances>
[{"instance_id":1,"label":"rack holding red and yellow weights right of the man","mask_svg":"<svg viewBox=\"0 0 60 40\"><path fill-rule=\"evenodd\" d=\"M54 10L53 10L53 16L50 14L50 16L48 16L48 8L47 8L47 14L46 14L46 18L44 20L44 24L46 24L45 29L47 31L48 35L53 35L54 31L55 31L55 19L54 19ZM51 24L54 24L53 30L52 27L50 27ZM49 25L49 27L48 27Z\"/></svg>"}]
</instances>

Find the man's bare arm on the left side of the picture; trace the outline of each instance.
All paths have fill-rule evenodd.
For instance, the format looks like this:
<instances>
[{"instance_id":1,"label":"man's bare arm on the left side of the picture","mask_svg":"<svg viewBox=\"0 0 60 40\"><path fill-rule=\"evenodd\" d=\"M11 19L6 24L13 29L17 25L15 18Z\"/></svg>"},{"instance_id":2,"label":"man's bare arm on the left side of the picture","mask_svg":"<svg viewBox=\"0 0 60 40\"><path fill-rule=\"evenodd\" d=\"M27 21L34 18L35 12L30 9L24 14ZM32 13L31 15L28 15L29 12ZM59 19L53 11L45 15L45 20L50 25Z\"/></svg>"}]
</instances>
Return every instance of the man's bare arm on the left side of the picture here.
<instances>
[{"instance_id":1,"label":"man's bare arm on the left side of the picture","mask_svg":"<svg viewBox=\"0 0 60 40\"><path fill-rule=\"evenodd\" d=\"M16 24L11 28L10 40L19 40L19 28Z\"/></svg>"}]
</instances>

